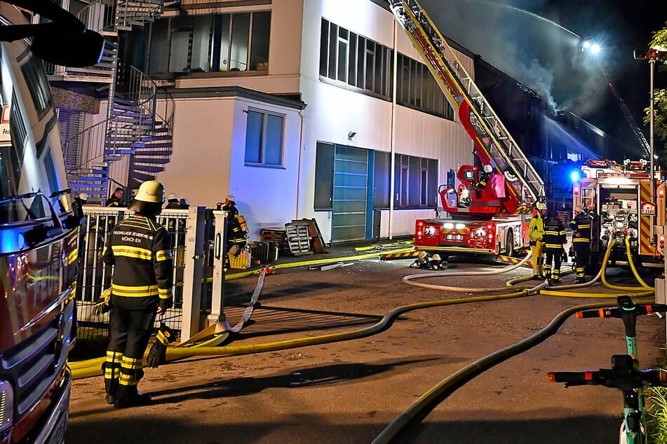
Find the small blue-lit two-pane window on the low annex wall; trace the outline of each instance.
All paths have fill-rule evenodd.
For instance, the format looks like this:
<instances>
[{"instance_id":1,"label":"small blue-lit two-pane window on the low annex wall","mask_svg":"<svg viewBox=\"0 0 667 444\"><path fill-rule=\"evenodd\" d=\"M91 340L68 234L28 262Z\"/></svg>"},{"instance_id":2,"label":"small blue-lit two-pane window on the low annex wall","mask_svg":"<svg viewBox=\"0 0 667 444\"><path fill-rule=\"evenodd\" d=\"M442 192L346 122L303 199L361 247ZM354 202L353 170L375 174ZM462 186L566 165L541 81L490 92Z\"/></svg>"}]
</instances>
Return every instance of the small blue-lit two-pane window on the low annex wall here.
<instances>
[{"instance_id":1,"label":"small blue-lit two-pane window on the low annex wall","mask_svg":"<svg viewBox=\"0 0 667 444\"><path fill-rule=\"evenodd\" d=\"M248 109L245 129L245 165L283 166L285 116Z\"/></svg>"}]
</instances>

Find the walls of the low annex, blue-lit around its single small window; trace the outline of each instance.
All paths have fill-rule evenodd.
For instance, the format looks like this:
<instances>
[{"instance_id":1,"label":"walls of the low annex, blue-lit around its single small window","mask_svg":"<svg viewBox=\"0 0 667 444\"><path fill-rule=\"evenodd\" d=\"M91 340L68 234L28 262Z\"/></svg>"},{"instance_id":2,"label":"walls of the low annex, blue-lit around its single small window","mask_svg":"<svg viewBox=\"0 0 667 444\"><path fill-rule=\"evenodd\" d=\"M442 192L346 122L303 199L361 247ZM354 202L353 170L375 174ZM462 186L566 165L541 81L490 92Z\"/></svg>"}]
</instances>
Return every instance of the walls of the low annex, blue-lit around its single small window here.
<instances>
[{"instance_id":1,"label":"walls of the low annex, blue-lit around its single small window","mask_svg":"<svg viewBox=\"0 0 667 444\"><path fill-rule=\"evenodd\" d=\"M245 165L248 107L285 115L283 168ZM176 99L172 158L156 176L166 193L215 208L228 194L245 216L251 239L296 216L301 118L295 109L243 97Z\"/></svg>"}]
</instances>

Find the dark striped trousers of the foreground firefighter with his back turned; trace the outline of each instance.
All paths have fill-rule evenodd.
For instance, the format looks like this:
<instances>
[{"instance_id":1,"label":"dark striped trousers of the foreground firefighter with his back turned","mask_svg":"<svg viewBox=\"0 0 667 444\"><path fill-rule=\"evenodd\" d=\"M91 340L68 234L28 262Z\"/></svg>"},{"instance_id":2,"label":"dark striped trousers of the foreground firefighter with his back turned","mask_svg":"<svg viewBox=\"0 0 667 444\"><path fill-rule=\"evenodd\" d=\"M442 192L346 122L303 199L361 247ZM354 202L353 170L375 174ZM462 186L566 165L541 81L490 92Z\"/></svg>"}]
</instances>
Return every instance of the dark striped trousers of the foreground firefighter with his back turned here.
<instances>
[{"instance_id":1,"label":"dark striped trousers of the foreground firefighter with his back turned","mask_svg":"<svg viewBox=\"0 0 667 444\"><path fill-rule=\"evenodd\" d=\"M120 359L120 370L108 374L109 377L117 377L120 385L135 386L144 375L142 358L153 332L154 321L155 310L113 307L106 365L107 368L117 368Z\"/></svg>"}]
</instances>

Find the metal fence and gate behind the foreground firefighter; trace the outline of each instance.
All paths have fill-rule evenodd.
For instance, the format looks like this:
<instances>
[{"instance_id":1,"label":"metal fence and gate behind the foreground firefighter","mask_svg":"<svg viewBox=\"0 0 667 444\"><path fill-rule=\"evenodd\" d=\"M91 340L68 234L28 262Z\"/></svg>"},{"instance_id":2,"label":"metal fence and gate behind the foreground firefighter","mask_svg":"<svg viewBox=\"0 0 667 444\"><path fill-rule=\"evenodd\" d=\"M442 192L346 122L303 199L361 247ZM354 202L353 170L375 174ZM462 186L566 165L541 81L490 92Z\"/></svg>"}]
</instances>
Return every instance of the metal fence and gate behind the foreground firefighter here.
<instances>
[{"instance_id":1,"label":"metal fence and gate behind the foreground firefighter","mask_svg":"<svg viewBox=\"0 0 667 444\"><path fill-rule=\"evenodd\" d=\"M102 254L116 223L132 213L126 208L92 205L84 206L83 212L76 283L77 338L99 340L108 335L109 313L95 315L93 306L111 286L113 273L113 268L102 260ZM170 237L174 306L164 317L156 319L155 327L163 321L185 340L203 328L207 317L217 319L222 312L226 214L204 207L166 209L157 220Z\"/></svg>"}]
</instances>

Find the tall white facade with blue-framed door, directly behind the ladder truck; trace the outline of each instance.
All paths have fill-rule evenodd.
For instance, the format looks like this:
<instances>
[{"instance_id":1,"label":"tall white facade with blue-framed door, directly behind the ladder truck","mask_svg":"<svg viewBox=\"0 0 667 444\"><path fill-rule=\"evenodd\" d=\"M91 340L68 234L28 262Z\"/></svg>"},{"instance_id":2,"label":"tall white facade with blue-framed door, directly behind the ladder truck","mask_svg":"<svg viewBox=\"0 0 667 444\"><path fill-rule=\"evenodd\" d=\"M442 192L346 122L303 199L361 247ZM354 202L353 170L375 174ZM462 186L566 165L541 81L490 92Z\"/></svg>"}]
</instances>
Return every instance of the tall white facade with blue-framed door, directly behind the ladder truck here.
<instances>
[{"instance_id":1,"label":"tall white facade with blue-framed door, directly behind the ladder truck","mask_svg":"<svg viewBox=\"0 0 667 444\"><path fill-rule=\"evenodd\" d=\"M323 237L329 241L331 213L314 211L317 141L438 159L439 183L445 183L450 168L473 162L473 143L459 123L404 106L396 106L394 113L391 102L321 82L319 51L323 17L384 46L396 47L416 60L422 59L393 15L370 1L305 1L301 92L307 107L299 217L316 218ZM461 58L464 66L472 69L473 61L462 55ZM350 131L357 133L352 141L348 139ZM395 132L393 141L392 131ZM434 215L432 209L396 209L391 216L389 213L382 211L382 237L413 234L415 219Z\"/></svg>"}]
</instances>

